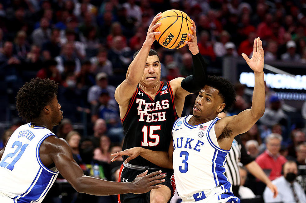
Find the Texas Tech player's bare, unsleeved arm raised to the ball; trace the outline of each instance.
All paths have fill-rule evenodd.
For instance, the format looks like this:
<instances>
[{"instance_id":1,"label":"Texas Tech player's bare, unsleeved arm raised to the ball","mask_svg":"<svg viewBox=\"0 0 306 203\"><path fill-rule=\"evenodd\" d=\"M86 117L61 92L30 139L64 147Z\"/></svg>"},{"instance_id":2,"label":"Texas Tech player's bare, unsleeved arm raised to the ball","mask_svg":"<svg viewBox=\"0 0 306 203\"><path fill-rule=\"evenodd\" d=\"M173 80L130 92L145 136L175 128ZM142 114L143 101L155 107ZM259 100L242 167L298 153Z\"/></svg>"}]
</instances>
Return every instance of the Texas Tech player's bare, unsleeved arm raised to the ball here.
<instances>
[{"instance_id":1,"label":"Texas Tech player's bare, unsleeved arm raised to the ball","mask_svg":"<svg viewBox=\"0 0 306 203\"><path fill-rule=\"evenodd\" d=\"M158 13L153 18L147 32L146 40L126 72L126 79L116 88L115 99L119 105L122 105L131 99L139 81L141 80L146 65L146 60L155 40L155 35L160 34L160 32L154 31L161 25L161 23L157 23L155 25L156 21L158 21L158 19L161 17L160 14L161 13Z\"/></svg>"}]
</instances>

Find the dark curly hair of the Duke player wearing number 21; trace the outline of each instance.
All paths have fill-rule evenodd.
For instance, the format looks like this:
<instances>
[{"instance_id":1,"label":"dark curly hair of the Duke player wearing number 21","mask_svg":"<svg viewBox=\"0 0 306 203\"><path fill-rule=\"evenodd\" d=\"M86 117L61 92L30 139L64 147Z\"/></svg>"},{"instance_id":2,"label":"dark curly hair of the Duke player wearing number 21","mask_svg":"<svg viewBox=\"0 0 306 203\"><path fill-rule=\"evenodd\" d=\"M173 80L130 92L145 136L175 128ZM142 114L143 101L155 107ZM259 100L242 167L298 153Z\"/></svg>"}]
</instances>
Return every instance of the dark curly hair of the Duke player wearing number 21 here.
<instances>
[{"instance_id":1,"label":"dark curly hair of the Duke player wearing number 21","mask_svg":"<svg viewBox=\"0 0 306 203\"><path fill-rule=\"evenodd\" d=\"M48 78L33 78L17 93L16 110L27 122L39 118L43 108L57 95L58 84Z\"/></svg>"}]
</instances>

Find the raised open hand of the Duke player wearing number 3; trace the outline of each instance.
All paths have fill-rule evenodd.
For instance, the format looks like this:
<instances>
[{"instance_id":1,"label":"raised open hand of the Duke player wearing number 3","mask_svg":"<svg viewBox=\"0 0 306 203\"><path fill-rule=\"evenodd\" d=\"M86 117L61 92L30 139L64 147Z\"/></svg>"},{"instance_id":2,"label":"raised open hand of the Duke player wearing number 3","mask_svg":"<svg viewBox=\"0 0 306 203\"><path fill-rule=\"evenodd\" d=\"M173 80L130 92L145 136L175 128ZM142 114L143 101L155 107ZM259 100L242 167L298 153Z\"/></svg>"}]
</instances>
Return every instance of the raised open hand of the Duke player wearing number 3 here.
<instances>
[{"instance_id":1,"label":"raised open hand of the Duke player wearing number 3","mask_svg":"<svg viewBox=\"0 0 306 203\"><path fill-rule=\"evenodd\" d=\"M264 49L262 48L262 41L259 39L259 37L254 39L252 58L249 59L245 53L241 55L254 72L264 71Z\"/></svg>"}]
</instances>

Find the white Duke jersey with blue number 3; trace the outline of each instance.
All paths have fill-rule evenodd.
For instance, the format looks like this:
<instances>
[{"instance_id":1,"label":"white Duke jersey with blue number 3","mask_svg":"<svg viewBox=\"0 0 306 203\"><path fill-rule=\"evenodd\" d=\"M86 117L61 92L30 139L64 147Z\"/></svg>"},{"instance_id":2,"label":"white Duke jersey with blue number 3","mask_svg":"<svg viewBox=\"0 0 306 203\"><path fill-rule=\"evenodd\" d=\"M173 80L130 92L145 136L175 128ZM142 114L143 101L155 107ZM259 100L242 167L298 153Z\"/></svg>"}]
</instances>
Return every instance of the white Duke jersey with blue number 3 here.
<instances>
[{"instance_id":1,"label":"white Duke jersey with blue number 3","mask_svg":"<svg viewBox=\"0 0 306 203\"><path fill-rule=\"evenodd\" d=\"M220 149L215 134L215 123L220 118L191 126L188 124L191 117L179 118L172 129L173 169L179 196L183 201L199 201L216 195L215 202L226 202L218 201L221 198L234 198L236 202L238 198L230 193L231 185L224 175L229 151Z\"/></svg>"}]
</instances>

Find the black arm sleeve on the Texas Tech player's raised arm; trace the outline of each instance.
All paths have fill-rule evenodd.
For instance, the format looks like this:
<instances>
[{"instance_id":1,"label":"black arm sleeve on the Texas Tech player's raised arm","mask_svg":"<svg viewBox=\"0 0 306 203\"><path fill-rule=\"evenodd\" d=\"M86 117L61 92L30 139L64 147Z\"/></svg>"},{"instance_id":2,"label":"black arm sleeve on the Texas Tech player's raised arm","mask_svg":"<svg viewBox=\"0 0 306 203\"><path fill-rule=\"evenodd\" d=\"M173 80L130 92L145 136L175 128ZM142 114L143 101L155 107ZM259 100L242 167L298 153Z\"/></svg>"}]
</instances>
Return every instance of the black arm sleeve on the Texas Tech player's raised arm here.
<instances>
[{"instance_id":1,"label":"black arm sleeve on the Texas Tech player's raised arm","mask_svg":"<svg viewBox=\"0 0 306 203\"><path fill-rule=\"evenodd\" d=\"M182 80L180 85L184 90L190 93L197 93L206 84L207 63L204 61L200 53L197 53L196 55L192 55L192 61L193 61L193 67L194 67L193 75L187 76L184 80Z\"/></svg>"}]
</instances>

